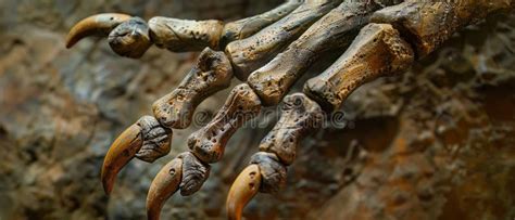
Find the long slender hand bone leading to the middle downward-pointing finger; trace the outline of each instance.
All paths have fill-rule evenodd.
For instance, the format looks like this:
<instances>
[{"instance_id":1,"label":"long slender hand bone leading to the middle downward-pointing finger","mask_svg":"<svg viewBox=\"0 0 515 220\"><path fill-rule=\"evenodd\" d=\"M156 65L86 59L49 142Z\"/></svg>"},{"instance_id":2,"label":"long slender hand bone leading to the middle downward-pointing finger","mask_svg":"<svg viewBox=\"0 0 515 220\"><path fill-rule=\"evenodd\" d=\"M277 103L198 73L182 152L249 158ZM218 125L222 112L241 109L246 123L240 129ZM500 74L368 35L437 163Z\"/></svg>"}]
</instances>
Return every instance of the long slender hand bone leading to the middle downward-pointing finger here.
<instances>
[{"instance_id":1,"label":"long slender hand bone leading to the middle downward-pointing finger","mask_svg":"<svg viewBox=\"0 0 515 220\"><path fill-rule=\"evenodd\" d=\"M390 2L384 2L389 5ZM269 63L253 72L248 83L264 105L277 105L291 86L324 52L348 46L381 4L344 1L313 24Z\"/></svg>"}]
</instances>

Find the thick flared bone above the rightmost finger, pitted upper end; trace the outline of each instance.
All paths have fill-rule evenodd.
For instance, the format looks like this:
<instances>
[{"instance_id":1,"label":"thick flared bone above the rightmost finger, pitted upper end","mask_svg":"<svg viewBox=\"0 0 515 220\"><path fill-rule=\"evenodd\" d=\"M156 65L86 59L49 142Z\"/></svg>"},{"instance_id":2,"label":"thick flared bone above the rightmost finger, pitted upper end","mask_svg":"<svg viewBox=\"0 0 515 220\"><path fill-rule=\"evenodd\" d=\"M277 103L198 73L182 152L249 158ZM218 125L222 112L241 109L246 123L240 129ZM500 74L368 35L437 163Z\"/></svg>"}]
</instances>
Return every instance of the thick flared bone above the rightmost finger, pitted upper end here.
<instances>
[{"instance_id":1,"label":"thick flared bone above the rightmost finger, pitted upper end","mask_svg":"<svg viewBox=\"0 0 515 220\"><path fill-rule=\"evenodd\" d=\"M389 24L365 26L349 49L321 75L307 80L304 92L332 112L357 87L381 76L406 70L414 52Z\"/></svg>"}]
</instances>

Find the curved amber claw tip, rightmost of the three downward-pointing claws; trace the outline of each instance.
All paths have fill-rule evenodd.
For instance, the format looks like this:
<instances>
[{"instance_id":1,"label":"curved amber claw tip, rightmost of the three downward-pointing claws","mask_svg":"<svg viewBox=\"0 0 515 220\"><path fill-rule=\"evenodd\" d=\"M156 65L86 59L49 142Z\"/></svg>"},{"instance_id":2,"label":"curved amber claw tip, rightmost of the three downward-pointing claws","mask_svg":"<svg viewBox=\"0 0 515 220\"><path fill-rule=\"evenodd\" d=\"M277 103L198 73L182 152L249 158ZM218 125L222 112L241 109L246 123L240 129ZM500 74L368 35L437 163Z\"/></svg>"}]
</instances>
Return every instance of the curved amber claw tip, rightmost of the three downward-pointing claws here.
<instances>
[{"instance_id":1,"label":"curved amber claw tip, rightmost of the three downward-pointing claws","mask_svg":"<svg viewBox=\"0 0 515 220\"><path fill-rule=\"evenodd\" d=\"M258 194L261 186L261 172L258 165L250 165L241 171L230 186L227 196L227 217L229 220L240 220L241 212L250 199Z\"/></svg>"}]
</instances>

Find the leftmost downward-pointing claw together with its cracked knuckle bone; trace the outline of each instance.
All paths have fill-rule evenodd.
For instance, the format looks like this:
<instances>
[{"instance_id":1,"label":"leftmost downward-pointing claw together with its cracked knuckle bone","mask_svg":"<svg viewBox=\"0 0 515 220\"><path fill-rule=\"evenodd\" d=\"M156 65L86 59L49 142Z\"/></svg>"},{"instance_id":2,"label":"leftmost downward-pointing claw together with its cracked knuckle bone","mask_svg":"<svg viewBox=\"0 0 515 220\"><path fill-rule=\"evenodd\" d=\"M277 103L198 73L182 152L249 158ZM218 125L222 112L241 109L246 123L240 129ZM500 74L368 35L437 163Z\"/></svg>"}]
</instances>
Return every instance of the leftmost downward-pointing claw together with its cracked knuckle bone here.
<instances>
[{"instance_id":1,"label":"leftmost downward-pointing claw together with its cracked knuckle bone","mask_svg":"<svg viewBox=\"0 0 515 220\"><path fill-rule=\"evenodd\" d=\"M105 155L101 179L106 194L113 190L118 171L134 157L152 163L169 152L172 130L152 116L141 117L113 142Z\"/></svg>"}]
</instances>

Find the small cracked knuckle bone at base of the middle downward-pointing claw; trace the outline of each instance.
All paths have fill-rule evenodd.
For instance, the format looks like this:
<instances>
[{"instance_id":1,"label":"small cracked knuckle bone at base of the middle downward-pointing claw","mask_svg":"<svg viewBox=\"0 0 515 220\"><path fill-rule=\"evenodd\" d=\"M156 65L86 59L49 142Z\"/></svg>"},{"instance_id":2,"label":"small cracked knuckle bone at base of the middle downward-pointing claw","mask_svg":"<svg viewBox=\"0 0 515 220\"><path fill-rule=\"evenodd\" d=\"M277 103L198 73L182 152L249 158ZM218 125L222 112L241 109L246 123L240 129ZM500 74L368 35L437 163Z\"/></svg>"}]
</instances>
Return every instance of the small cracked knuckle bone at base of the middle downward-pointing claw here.
<instances>
[{"instance_id":1,"label":"small cracked knuckle bone at base of the middle downward-pointing claw","mask_svg":"<svg viewBox=\"0 0 515 220\"><path fill-rule=\"evenodd\" d=\"M202 163L191 152L185 152L177 156L183 159L183 180L180 181L180 195L191 195L210 177L211 166Z\"/></svg>"}]
</instances>

